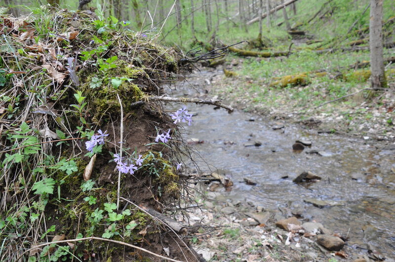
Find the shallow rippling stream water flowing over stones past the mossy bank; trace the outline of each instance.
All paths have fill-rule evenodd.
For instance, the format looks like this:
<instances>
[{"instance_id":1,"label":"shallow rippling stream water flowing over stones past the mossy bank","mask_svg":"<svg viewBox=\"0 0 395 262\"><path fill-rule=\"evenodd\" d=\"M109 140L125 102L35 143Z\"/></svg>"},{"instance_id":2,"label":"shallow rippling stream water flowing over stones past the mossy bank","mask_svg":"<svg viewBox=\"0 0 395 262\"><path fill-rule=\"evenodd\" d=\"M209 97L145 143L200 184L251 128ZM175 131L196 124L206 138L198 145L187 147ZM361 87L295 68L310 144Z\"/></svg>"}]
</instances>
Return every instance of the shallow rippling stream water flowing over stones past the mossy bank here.
<instances>
[{"instance_id":1,"label":"shallow rippling stream water flowing over stones past the mossy bank","mask_svg":"<svg viewBox=\"0 0 395 262\"><path fill-rule=\"evenodd\" d=\"M220 74L207 70L189 75L188 82L178 83L172 95L213 97L205 90L210 79ZM232 191L224 194L242 195L264 209L288 211L289 216L290 211L302 209L303 218L348 235L349 246L395 257L394 144L317 134L286 122L284 128L274 130L274 121L262 116L213 108L188 104L193 124L183 126L188 138L203 142L194 146L206 162L200 162L201 171L218 169L233 181ZM312 146L302 152L292 150L298 139L309 140ZM261 146L254 146L255 142ZM310 150L324 153L306 153ZM293 183L304 171L322 179L308 186ZM244 178L257 185L247 185ZM312 199L323 200L327 206L319 208Z\"/></svg>"}]
</instances>

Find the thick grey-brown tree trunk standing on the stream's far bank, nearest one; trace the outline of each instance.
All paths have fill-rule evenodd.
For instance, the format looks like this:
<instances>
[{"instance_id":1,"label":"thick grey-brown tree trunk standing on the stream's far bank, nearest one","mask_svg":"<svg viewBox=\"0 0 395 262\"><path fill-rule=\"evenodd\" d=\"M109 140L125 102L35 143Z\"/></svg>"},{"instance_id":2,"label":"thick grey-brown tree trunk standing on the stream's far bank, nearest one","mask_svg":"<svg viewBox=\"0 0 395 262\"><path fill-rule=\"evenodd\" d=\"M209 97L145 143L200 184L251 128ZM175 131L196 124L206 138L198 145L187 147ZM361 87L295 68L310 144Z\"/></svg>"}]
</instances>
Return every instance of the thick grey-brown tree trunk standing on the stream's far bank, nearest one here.
<instances>
[{"instance_id":1,"label":"thick grey-brown tree trunk standing on the stream's far bank, nearest one","mask_svg":"<svg viewBox=\"0 0 395 262\"><path fill-rule=\"evenodd\" d=\"M383 59L383 0L370 0L370 68L372 88L387 86Z\"/></svg>"}]
</instances>

